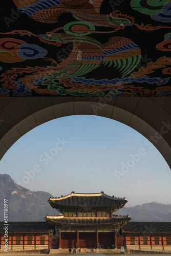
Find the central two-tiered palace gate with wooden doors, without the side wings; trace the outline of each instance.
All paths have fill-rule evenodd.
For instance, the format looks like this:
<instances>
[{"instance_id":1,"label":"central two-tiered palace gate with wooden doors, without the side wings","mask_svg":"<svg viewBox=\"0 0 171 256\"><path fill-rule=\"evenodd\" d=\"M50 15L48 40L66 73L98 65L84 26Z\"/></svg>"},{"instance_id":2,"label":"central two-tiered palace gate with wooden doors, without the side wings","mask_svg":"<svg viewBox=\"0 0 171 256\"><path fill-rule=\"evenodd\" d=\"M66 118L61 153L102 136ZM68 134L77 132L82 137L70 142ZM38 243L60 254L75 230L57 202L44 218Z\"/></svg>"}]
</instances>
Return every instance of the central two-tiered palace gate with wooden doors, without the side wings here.
<instances>
[{"instance_id":1,"label":"central two-tiered palace gate with wooden doors, without the side wings","mask_svg":"<svg viewBox=\"0 0 171 256\"><path fill-rule=\"evenodd\" d=\"M55 227L58 248L117 248L116 232L131 220L129 216L114 213L127 202L125 198L99 194L77 194L50 198L50 205L61 212L46 216Z\"/></svg>"}]
</instances>

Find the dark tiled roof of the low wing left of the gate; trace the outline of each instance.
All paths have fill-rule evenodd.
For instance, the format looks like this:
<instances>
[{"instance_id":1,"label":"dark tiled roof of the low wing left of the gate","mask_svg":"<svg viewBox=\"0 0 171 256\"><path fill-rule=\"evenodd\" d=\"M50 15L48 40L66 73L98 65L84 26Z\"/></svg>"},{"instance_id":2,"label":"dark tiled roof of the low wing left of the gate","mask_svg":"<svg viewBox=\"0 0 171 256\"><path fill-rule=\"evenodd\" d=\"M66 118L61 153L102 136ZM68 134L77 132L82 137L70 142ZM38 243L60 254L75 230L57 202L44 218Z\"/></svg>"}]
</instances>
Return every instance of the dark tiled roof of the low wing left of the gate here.
<instances>
[{"instance_id":1,"label":"dark tiled roof of the low wing left of the gate","mask_svg":"<svg viewBox=\"0 0 171 256\"><path fill-rule=\"evenodd\" d=\"M4 222L0 222L0 233L4 233ZM53 227L47 222L8 222L8 233L51 233Z\"/></svg>"}]
</instances>

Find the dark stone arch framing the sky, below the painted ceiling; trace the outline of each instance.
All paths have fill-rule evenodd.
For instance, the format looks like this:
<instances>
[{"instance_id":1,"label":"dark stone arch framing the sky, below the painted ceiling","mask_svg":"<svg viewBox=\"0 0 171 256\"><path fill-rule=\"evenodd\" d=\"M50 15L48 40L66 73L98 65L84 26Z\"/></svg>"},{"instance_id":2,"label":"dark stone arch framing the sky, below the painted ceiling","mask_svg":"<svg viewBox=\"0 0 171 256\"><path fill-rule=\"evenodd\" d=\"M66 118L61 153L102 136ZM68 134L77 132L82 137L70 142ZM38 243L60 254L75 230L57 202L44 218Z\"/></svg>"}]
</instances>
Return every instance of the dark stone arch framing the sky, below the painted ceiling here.
<instances>
[{"instance_id":1,"label":"dark stone arch framing the sky, below the painted ceiling","mask_svg":"<svg viewBox=\"0 0 171 256\"><path fill-rule=\"evenodd\" d=\"M16 140L42 123L69 115L98 115L141 133L156 146L171 168L169 98L4 97L0 108L0 158Z\"/></svg>"}]
</instances>

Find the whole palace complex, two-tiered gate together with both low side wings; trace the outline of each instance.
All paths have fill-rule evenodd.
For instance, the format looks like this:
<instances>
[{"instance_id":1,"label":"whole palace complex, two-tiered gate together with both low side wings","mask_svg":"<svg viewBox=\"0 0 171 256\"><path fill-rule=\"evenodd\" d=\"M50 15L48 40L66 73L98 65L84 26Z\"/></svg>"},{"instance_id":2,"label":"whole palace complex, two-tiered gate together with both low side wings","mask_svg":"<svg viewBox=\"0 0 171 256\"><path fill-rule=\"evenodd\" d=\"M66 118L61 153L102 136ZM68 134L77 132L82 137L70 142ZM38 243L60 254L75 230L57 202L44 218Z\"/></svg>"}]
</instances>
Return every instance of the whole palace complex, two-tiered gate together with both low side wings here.
<instances>
[{"instance_id":1,"label":"whole palace complex, two-tiered gate together with both low side wings","mask_svg":"<svg viewBox=\"0 0 171 256\"><path fill-rule=\"evenodd\" d=\"M99 248L126 252L155 250L171 251L171 222L130 222L127 216L115 212L126 204L125 198L98 194L78 194L74 191L59 198L50 198L57 216L47 215L44 222L8 222L5 238L4 222L0 222L0 252L8 240L8 250L84 251ZM77 251L76 251L77 252ZM56 252L57 253L57 252Z\"/></svg>"}]
</instances>

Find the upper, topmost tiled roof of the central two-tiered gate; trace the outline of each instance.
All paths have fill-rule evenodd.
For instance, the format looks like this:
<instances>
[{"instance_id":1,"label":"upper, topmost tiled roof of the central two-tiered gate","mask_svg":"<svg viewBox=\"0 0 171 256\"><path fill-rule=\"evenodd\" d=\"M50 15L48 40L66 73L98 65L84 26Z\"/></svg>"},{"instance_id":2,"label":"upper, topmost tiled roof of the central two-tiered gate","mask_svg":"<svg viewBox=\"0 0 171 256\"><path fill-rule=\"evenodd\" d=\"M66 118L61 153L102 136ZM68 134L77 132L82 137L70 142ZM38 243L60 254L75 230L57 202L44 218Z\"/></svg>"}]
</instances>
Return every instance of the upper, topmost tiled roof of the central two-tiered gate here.
<instances>
[{"instance_id":1,"label":"upper, topmost tiled roof of the central two-tiered gate","mask_svg":"<svg viewBox=\"0 0 171 256\"><path fill-rule=\"evenodd\" d=\"M120 205L122 208L127 202L125 198L115 198L104 193L99 194L77 194L71 193L65 197L50 198L48 202L52 207L60 206L78 206L78 207L101 207Z\"/></svg>"}]
</instances>

